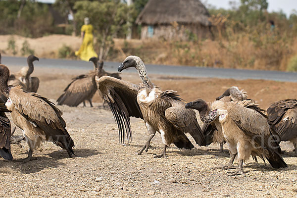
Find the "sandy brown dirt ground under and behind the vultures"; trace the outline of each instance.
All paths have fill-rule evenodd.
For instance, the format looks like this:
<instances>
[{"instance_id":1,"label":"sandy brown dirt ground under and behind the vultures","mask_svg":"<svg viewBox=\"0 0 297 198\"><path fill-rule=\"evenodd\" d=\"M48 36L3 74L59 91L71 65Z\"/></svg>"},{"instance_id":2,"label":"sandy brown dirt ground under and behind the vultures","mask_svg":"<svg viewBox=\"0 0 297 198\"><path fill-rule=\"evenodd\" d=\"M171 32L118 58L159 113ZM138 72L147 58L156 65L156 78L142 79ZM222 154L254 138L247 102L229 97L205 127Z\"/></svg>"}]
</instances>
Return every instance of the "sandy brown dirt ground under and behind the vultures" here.
<instances>
[{"instance_id":1,"label":"sandy brown dirt ground under and behind the vultures","mask_svg":"<svg viewBox=\"0 0 297 198\"><path fill-rule=\"evenodd\" d=\"M19 69L8 67L12 73ZM38 93L55 101L72 77L87 72L35 68L34 76L41 80ZM296 83L149 76L163 90L177 90L187 101L197 98L212 101L230 86L245 89L249 98L257 100L263 108L279 99L296 98ZM122 77L139 82L136 74L123 72ZM246 178L229 177L228 171L211 170L229 160L228 151L220 153L218 145L196 146L192 150L180 150L172 145L167 149L167 158L153 158L162 148L157 134L151 142L155 149L138 155L137 150L148 138L141 119L131 119L130 146L120 145L111 111L102 108L98 95L94 102L94 108L88 104L87 107L58 106L74 140L75 157L69 158L66 151L44 143L33 153L34 160L24 163L18 160L26 157L27 144L22 143L24 148L11 146L14 160L0 159L0 197L297 197L297 158L290 143L282 143L287 151L284 160L288 168L276 170L269 164L265 168L263 162L250 159L244 166ZM20 135L20 130L16 134Z\"/></svg>"}]
</instances>

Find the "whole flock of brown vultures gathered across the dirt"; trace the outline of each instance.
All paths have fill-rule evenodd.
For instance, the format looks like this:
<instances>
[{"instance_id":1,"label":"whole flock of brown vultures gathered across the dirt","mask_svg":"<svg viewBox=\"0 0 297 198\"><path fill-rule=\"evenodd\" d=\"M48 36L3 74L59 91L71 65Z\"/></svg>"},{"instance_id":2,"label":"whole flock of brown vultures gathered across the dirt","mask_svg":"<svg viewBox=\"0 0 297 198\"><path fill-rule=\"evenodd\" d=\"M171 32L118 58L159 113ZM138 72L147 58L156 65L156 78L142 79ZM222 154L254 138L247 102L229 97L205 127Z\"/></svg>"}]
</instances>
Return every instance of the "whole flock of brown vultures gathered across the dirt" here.
<instances>
[{"instance_id":1,"label":"whole flock of brown vultures gathered across the dirt","mask_svg":"<svg viewBox=\"0 0 297 198\"><path fill-rule=\"evenodd\" d=\"M44 141L51 141L65 149L70 157L74 154L74 142L66 130L62 112L49 99L36 94L39 79L31 77L33 61L39 60L30 55L28 67L16 74L9 74L8 68L0 64L0 156L12 160L10 143L26 140L29 145L28 157L32 159L33 150ZM145 64L138 56L128 56L118 67L118 72L129 67L138 71L142 81L135 85L121 80L119 73L107 73L103 70L103 61L90 58L94 71L80 75L65 88L57 99L57 104L77 106L92 98L97 90L107 102L119 129L120 142L132 140L130 117L144 120L149 137L138 154L150 148L150 141L159 132L164 144L160 155L166 157L166 148L174 144L177 148L192 149L194 145L185 135L189 133L196 144L207 146L211 143L224 143L229 146L230 161L217 168L235 169L230 175L245 175L243 164L250 157L265 159L273 168L285 168L281 141L291 141L297 152L297 100L285 99L270 105L265 111L253 99L247 99L247 93L237 87L226 90L211 104L203 99L185 103L176 91L162 91L152 84L147 75ZM200 128L196 116L204 123ZM10 121L5 113L10 112L14 124L22 129L24 137L16 140L12 137ZM126 136L126 138L125 138ZM238 156L239 165L233 165ZM266 166L266 163L265 163Z\"/></svg>"}]
</instances>

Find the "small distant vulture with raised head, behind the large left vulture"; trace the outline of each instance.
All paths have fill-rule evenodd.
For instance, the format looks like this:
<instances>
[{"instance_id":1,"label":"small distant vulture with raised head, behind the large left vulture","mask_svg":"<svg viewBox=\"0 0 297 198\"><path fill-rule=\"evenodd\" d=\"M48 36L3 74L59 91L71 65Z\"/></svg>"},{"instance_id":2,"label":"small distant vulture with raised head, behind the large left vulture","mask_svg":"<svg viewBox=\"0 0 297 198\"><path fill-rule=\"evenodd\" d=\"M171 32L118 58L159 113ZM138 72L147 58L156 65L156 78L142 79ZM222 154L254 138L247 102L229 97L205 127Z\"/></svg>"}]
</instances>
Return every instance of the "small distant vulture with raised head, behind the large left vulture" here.
<instances>
[{"instance_id":1,"label":"small distant vulture with raised head, behind the large left vulture","mask_svg":"<svg viewBox=\"0 0 297 198\"><path fill-rule=\"evenodd\" d=\"M31 77L34 71L33 61L39 58L34 55L29 55L27 58L28 67L22 67L17 74L12 74L9 76L8 85L22 86L22 89L27 92L37 92L39 88L39 78Z\"/></svg>"}]
</instances>

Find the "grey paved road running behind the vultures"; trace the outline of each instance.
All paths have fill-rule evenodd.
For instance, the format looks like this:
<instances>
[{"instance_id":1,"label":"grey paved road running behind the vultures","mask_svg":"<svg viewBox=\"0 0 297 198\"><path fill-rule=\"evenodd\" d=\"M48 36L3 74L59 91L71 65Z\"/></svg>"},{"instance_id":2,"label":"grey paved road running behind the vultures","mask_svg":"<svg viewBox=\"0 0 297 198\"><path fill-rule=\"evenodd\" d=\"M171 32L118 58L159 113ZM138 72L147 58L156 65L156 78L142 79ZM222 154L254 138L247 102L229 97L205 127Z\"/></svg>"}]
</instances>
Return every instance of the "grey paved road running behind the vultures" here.
<instances>
[{"instance_id":1,"label":"grey paved road running behind the vultures","mask_svg":"<svg viewBox=\"0 0 297 198\"><path fill-rule=\"evenodd\" d=\"M3 56L2 63L6 65L23 66L26 64L24 57ZM92 70L91 62L79 60L63 60L63 59L43 59L34 63L36 67L52 67L52 68L74 68L82 70ZM104 69L108 72L116 72L119 62L105 62ZM160 74L169 76L184 77L210 77L224 79L264 79L276 81L297 82L297 73L278 72L278 71L262 71L262 70L243 70L243 69L221 69L206 67L189 67L189 66L170 66L170 65L150 65L147 64L148 74ZM129 68L129 72L136 72L134 68ZM126 71L127 72L127 71Z\"/></svg>"}]
</instances>

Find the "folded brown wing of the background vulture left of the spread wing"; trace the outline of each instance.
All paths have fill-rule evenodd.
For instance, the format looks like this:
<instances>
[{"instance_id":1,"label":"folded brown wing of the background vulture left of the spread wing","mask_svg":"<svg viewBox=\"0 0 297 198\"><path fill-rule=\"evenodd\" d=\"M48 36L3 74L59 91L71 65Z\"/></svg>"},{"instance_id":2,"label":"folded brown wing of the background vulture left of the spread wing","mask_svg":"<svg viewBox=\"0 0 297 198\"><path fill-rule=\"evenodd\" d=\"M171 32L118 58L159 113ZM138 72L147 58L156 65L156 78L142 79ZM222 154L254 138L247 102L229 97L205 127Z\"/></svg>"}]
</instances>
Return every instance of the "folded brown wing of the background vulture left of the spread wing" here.
<instances>
[{"instance_id":1,"label":"folded brown wing of the background vulture left of the spread wing","mask_svg":"<svg viewBox=\"0 0 297 198\"><path fill-rule=\"evenodd\" d=\"M64 93L57 99L58 105L77 106L96 92L91 76L80 75L65 88ZM95 92L94 92L95 91Z\"/></svg>"}]
</instances>

